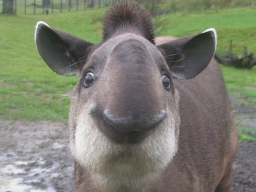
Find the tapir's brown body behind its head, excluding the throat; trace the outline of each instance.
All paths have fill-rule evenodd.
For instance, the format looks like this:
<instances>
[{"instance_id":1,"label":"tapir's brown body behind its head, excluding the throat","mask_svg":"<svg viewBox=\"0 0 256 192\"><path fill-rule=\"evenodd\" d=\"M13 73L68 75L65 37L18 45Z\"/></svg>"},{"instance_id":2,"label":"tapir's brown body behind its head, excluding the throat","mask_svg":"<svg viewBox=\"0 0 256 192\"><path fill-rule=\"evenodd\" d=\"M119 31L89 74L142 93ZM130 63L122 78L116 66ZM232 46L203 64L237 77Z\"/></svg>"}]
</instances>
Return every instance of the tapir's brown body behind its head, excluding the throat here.
<instances>
[{"instance_id":1,"label":"tapir's brown body behind its head, excluding the throat","mask_svg":"<svg viewBox=\"0 0 256 192\"><path fill-rule=\"evenodd\" d=\"M174 83L180 93L179 149L148 192L230 191L238 135L217 62L194 79ZM78 163L75 176L77 191L95 192Z\"/></svg>"}]
</instances>

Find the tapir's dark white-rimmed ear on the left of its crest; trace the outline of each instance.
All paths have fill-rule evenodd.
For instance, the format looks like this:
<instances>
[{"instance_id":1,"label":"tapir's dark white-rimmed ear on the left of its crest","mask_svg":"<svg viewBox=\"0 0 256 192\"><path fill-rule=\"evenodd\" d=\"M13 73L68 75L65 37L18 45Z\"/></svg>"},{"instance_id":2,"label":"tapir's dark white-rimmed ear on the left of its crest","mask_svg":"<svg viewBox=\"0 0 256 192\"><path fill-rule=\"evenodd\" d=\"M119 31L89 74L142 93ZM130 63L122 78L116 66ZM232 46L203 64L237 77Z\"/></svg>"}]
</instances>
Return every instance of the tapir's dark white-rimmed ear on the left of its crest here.
<instances>
[{"instance_id":1,"label":"tapir's dark white-rimmed ear on the left of its crest","mask_svg":"<svg viewBox=\"0 0 256 192\"><path fill-rule=\"evenodd\" d=\"M35 44L48 67L60 75L75 75L81 67L79 63L75 63L81 58L85 60L93 45L68 33L52 29L43 21L36 24Z\"/></svg>"}]
</instances>

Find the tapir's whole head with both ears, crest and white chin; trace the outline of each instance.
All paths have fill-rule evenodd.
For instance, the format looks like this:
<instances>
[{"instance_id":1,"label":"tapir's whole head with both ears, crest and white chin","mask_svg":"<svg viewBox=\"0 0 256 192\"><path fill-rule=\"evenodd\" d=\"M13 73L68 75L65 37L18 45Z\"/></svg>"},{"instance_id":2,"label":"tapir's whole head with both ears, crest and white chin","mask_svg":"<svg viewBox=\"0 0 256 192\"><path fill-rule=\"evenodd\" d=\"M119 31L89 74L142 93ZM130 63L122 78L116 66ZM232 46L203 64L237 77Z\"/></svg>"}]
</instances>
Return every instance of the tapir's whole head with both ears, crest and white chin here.
<instances>
[{"instance_id":1,"label":"tapir's whole head with both ears, crest and white chin","mask_svg":"<svg viewBox=\"0 0 256 192\"><path fill-rule=\"evenodd\" d=\"M35 43L60 75L77 75L70 109L73 156L96 173L149 173L177 151L179 95L173 79L209 64L216 33L208 29L156 46L150 16L134 3L105 15L104 38L91 44L38 22Z\"/></svg>"}]
</instances>

